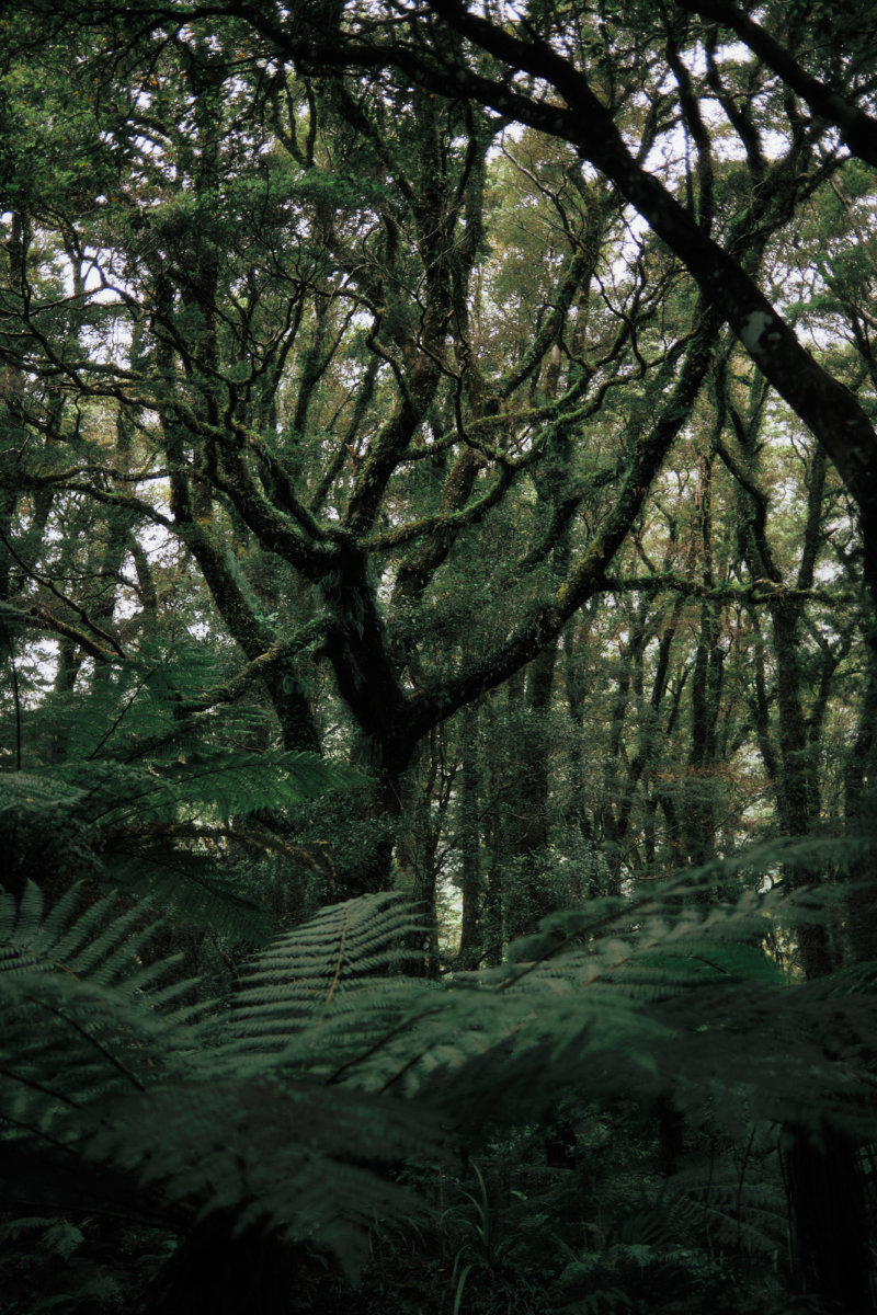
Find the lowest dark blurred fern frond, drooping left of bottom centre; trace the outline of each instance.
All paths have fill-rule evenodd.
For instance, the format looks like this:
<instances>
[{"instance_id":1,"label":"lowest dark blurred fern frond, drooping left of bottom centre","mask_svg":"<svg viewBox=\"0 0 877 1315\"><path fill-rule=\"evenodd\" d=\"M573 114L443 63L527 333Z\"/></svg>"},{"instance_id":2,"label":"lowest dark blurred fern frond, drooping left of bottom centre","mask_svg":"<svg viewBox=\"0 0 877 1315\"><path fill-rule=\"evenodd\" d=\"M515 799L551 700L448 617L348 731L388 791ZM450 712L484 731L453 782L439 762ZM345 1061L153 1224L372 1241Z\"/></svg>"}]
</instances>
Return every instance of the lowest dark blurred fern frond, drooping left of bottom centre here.
<instances>
[{"instance_id":1,"label":"lowest dark blurred fern frond, drooping left of bottom centre","mask_svg":"<svg viewBox=\"0 0 877 1315\"><path fill-rule=\"evenodd\" d=\"M377 1166L439 1151L425 1110L264 1077L166 1086L105 1106L104 1119L88 1159L159 1185L201 1220L231 1212L235 1232L259 1226L312 1241L351 1279L375 1219L418 1210Z\"/></svg>"}]
</instances>

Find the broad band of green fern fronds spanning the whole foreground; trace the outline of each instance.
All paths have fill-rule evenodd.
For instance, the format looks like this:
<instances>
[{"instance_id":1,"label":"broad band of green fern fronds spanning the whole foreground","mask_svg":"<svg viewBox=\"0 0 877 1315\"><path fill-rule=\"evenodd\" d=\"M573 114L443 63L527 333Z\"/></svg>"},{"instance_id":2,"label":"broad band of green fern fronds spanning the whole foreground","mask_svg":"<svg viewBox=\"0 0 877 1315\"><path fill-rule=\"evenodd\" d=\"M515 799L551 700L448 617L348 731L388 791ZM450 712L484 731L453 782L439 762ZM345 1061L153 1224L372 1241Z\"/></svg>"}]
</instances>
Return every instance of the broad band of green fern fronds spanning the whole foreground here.
<instances>
[{"instance_id":1,"label":"broad band of green fern fronds spanning the whole foreground","mask_svg":"<svg viewBox=\"0 0 877 1315\"><path fill-rule=\"evenodd\" d=\"M214 1248L271 1240L275 1258L306 1244L355 1278L371 1223L415 1210L400 1165L533 1122L564 1091L671 1102L728 1145L780 1122L877 1140L873 976L778 973L760 939L795 899L693 913L680 894L555 915L502 968L443 984L400 973L410 907L368 896L276 938L199 1005L172 960L149 963L160 923L142 907L5 897L7 1199L59 1218L110 1202ZM680 1180L673 1208L711 1244L757 1249L761 1226L777 1236L777 1178L751 1166L736 1182Z\"/></svg>"}]
</instances>

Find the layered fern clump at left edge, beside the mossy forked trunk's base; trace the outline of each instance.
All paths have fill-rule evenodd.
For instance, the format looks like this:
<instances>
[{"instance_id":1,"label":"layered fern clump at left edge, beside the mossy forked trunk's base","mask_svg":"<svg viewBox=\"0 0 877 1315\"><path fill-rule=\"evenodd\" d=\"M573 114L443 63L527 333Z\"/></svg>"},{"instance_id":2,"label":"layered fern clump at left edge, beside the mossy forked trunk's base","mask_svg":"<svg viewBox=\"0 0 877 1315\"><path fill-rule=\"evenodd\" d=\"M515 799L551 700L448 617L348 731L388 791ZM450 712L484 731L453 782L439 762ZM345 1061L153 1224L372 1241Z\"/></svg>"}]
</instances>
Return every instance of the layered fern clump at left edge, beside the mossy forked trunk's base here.
<instances>
[{"instance_id":1,"label":"layered fern clump at left edge, beside the mossy forked trunk's base","mask_svg":"<svg viewBox=\"0 0 877 1315\"><path fill-rule=\"evenodd\" d=\"M54 890L60 873L104 882L112 867L114 886L178 922L264 942L271 915L251 882L277 843L264 819L283 826L289 809L360 778L313 753L242 750L245 730L263 743L268 726L241 690L224 701L226 667L195 642L145 643L87 693L25 713L29 769L0 777L0 882ZM287 859L318 867L293 848Z\"/></svg>"}]
</instances>

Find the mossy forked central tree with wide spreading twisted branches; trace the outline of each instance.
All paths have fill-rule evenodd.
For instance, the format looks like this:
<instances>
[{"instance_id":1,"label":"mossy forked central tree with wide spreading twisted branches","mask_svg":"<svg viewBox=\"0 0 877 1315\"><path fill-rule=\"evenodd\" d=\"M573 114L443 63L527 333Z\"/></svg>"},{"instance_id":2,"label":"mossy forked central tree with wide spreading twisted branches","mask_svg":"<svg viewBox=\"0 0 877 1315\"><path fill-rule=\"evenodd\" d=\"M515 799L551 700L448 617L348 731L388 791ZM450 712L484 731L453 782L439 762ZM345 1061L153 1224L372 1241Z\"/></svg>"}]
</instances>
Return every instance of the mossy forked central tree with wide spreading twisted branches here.
<instances>
[{"instance_id":1,"label":"mossy forked central tree with wide spreading twisted branches","mask_svg":"<svg viewBox=\"0 0 877 1315\"><path fill-rule=\"evenodd\" d=\"M617 209L569 151L540 158L525 142L509 164L556 255L526 292L539 331L493 360L480 321L492 297L508 299L526 250L515 238L484 263L486 155L501 122L394 76L275 71L250 53L247 30L229 20L210 39L146 32L128 47L125 84L109 88L95 84L83 34L64 95L92 95L76 146L99 162L103 191L84 206L76 174L41 191L28 175L33 142L16 138L11 187L22 205L26 195L32 237L7 297L5 350L11 368L58 380L63 406L45 416L28 400L24 430L39 439L9 484L122 517L116 554L139 543L129 551L142 564L145 537L172 535L249 664L238 680L263 685L287 748L318 746L305 654L329 664L356 756L376 772L376 806L393 815L423 736L552 651L601 586L690 413L718 325L707 316L692 330L684 299L681 327L657 321L673 268L646 245L632 279L600 293ZM21 96L17 68L8 87ZM63 129L33 130L60 150ZM41 295L43 241L78 262L72 295ZM59 295L89 325L63 339ZM114 335L109 354L91 323ZM635 379L643 409L634 421L613 410L619 450L593 469L580 435ZM122 435L109 451L107 422ZM589 489L602 514L573 552ZM511 525L521 547L502 564L484 548ZM484 626L460 648L452 581L465 580L468 609L479 559L493 563L483 588L502 606L485 597ZM104 663L124 646L83 604L47 619L33 600L20 621L63 633L79 609ZM384 884L387 846L350 880L351 890Z\"/></svg>"}]
</instances>

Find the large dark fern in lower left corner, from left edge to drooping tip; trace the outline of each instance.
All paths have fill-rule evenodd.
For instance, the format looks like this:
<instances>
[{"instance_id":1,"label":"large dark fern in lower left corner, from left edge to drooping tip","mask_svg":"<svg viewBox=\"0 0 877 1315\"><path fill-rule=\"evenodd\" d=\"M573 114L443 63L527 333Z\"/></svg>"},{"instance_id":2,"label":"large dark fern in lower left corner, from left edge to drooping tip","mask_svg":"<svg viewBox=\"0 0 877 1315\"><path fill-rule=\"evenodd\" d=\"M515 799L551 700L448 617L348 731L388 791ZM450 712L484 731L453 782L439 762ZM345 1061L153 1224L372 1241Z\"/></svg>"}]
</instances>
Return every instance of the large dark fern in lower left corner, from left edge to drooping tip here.
<instances>
[{"instance_id":1,"label":"large dark fern in lower left corner, from left edge to drooping tip","mask_svg":"<svg viewBox=\"0 0 877 1315\"><path fill-rule=\"evenodd\" d=\"M124 914L93 939L108 903L76 914L71 893L42 920L36 888L20 910L4 901L0 1120L7 1149L18 1151L8 1160L16 1177L28 1149L42 1170L46 1152L63 1149L80 1161L78 1191L89 1182L103 1187L109 1172L124 1194L133 1176L151 1208L159 1193L168 1219L171 1207L184 1207L192 1222L231 1211L239 1231L258 1224L334 1251L354 1277L366 1224L414 1208L375 1166L435 1155L433 1116L404 1102L316 1086L301 1073L291 1078L271 1052L242 1072L234 1047L205 1049L206 1035L229 1022L237 1027L238 1018L217 1002L209 1026L187 1022L191 1011L174 1007L185 984L158 985L172 961L138 963L154 922L135 928ZM310 982L325 984L314 951L335 951L338 923L323 917L322 930L305 936ZM396 935L405 924L393 910L384 926ZM359 938L354 927L354 947L369 947L364 961L372 968L389 964L392 952L375 940L368 918L362 926ZM335 969L338 994L358 972ZM297 984L291 995L295 1013ZM137 1208L137 1198L129 1195L128 1206Z\"/></svg>"}]
</instances>

